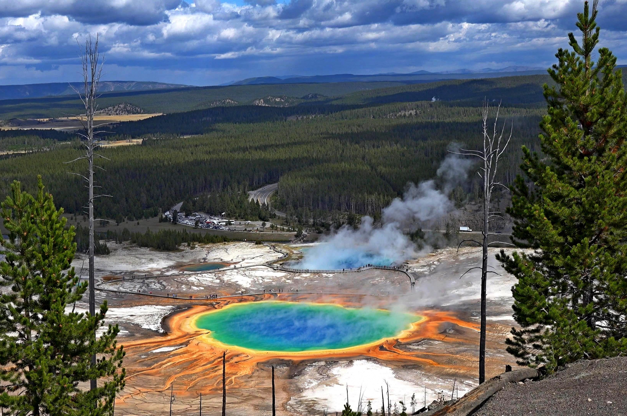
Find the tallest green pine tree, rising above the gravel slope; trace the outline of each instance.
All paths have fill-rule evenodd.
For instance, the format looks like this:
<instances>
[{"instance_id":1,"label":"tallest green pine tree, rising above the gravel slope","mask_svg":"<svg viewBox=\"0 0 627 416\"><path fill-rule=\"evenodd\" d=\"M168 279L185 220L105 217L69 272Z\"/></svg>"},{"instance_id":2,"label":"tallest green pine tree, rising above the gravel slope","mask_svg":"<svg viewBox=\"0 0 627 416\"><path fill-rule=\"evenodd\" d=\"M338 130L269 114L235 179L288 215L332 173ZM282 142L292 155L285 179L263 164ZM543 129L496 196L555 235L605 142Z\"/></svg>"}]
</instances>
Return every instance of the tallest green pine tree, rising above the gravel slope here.
<instances>
[{"instance_id":1,"label":"tallest green pine tree, rising above the gravel slope","mask_svg":"<svg viewBox=\"0 0 627 416\"><path fill-rule=\"evenodd\" d=\"M597 3L577 14L544 86L542 159L523 148L509 214L532 254L497 256L518 279L508 351L549 371L627 351L627 98L616 57L598 49ZM522 241L522 242L521 242Z\"/></svg>"}]
</instances>

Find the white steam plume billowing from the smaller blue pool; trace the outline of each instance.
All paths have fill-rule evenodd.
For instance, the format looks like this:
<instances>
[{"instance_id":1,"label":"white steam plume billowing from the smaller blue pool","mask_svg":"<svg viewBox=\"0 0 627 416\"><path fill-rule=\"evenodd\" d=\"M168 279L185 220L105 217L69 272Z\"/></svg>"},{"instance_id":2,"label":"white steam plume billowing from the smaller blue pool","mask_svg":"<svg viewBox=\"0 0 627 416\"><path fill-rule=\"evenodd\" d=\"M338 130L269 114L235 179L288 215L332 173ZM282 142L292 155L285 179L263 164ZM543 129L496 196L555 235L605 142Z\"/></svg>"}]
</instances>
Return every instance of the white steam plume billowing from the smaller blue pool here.
<instances>
[{"instance_id":1,"label":"white steam plume billowing from the smaller blue pool","mask_svg":"<svg viewBox=\"0 0 627 416\"><path fill-rule=\"evenodd\" d=\"M448 199L451 190L468 178L471 162L448 155L437 171L437 178L410 184L403 198L395 198L375 227L371 217L362 217L361 226L343 226L311 247L297 264L301 269L337 270L365 264L391 265L418 255L416 245L404 231L414 231L425 222L439 219L455 209Z\"/></svg>"}]
</instances>

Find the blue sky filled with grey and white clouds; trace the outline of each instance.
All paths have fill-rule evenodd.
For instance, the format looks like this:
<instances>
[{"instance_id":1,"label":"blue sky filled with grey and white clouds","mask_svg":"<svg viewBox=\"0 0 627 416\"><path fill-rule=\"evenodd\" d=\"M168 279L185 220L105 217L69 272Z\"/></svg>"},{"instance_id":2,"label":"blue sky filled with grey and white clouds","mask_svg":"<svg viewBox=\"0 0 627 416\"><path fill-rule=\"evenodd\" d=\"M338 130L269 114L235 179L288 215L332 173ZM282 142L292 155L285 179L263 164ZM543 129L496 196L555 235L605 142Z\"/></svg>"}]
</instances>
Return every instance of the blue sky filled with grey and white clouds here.
<instances>
[{"instance_id":1,"label":"blue sky filled with grey and white clouds","mask_svg":"<svg viewBox=\"0 0 627 416\"><path fill-rule=\"evenodd\" d=\"M579 0L0 0L0 84L78 79L99 33L105 79L216 85L251 76L549 66ZM627 0L601 0L627 63Z\"/></svg>"}]
</instances>

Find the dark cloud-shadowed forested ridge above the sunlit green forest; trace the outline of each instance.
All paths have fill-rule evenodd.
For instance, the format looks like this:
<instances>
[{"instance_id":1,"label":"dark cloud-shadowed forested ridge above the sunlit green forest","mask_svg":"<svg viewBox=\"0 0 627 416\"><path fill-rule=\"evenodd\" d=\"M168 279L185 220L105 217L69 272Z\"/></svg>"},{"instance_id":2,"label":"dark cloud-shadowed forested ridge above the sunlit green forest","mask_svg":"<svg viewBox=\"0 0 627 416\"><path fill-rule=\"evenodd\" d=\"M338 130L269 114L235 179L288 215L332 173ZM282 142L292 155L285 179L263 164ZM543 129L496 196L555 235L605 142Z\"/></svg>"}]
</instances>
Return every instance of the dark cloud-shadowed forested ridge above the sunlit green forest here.
<instances>
[{"instance_id":1,"label":"dark cloud-shadowed forested ridge above the sunlit green forest","mask_svg":"<svg viewBox=\"0 0 627 416\"><path fill-rule=\"evenodd\" d=\"M317 98L289 107L248 105L216 107L192 112L174 113L128 122L110 128L113 134L140 137L145 134L201 134L210 132L216 123L258 123L285 121L290 118L321 117L345 110L371 108L372 117L385 117L386 103L441 101L443 105L481 105L484 98L493 103L514 107L542 107L542 85L549 76L510 76L489 80L452 80L422 85L394 86L349 93L338 98ZM342 117L345 117L344 115Z\"/></svg>"}]
</instances>

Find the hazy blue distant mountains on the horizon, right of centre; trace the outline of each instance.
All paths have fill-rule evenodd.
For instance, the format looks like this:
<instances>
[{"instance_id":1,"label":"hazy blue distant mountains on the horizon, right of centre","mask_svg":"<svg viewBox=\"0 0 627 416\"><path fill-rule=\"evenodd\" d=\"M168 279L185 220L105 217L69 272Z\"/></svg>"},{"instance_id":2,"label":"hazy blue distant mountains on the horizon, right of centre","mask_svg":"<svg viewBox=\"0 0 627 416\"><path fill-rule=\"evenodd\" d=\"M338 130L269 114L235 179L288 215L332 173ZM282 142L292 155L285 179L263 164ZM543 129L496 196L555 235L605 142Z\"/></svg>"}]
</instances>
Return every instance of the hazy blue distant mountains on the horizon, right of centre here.
<instances>
[{"instance_id":1,"label":"hazy blue distant mountains on the horizon, right of centre","mask_svg":"<svg viewBox=\"0 0 627 416\"><path fill-rule=\"evenodd\" d=\"M546 69L537 66L507 66L494 70L483 68L482 70L468 70L462 68L453 71L416 71L412 73L384 73L373 75L335 74L335 75L285 75L285 76L258 76L234 81L223 85L258 85L258 84L293 84L293 83L328 83L328 82L374 82L374 81L401 81L407 83L422 83L437 80L465 80L468 78L495 78L498 76L512 75L538 75L545 74Z\"/></svg>"}]
</instances>

